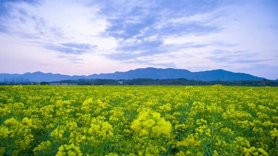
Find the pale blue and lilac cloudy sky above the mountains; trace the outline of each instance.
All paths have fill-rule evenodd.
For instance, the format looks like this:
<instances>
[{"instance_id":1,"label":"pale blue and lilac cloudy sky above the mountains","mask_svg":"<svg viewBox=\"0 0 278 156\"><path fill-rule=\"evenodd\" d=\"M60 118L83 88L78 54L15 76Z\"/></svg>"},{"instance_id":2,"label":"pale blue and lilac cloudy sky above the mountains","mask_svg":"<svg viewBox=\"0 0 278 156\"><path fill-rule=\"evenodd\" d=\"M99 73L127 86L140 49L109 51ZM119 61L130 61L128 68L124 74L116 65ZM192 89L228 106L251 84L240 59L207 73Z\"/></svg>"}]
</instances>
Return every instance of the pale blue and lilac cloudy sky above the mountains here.
<instances>
[{"instance_id":1,"label":"pale blue and lilac cloudy sky above the mountains","mask_svg":"<svg viewBox=\"0 0 278 156\"><path fill-rule=\"evenodd\" d=\"M224 69L278 78L278 1L0 0L0 73Z\"/></svg>"}]
</instances>

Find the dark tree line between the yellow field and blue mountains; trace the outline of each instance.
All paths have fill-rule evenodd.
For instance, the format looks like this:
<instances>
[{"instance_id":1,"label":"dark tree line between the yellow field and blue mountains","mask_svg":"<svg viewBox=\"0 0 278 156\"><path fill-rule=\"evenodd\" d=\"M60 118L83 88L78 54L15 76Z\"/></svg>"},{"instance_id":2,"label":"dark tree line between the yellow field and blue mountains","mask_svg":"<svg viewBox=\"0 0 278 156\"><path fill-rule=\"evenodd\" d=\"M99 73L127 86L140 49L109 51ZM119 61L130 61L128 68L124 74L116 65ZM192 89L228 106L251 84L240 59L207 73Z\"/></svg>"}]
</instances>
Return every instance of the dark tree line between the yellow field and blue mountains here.
<instances>
[{"instance_id":1,"label":"dark tree line between the yellow field and blue mountains","mask_svg":"<svg viewBox=\"0 0 278 156\"><path fill-rule=\"evenodd\" d=\"M131 80L112 80L112 79L79 79L63 80L55 82L2 82L0 85L175 85L175 86L202 86L221 84L225 86L278 86L278 81L264 79L262 81L197 81L187 79L131 79Z\"/></svg>"}]
</instances>

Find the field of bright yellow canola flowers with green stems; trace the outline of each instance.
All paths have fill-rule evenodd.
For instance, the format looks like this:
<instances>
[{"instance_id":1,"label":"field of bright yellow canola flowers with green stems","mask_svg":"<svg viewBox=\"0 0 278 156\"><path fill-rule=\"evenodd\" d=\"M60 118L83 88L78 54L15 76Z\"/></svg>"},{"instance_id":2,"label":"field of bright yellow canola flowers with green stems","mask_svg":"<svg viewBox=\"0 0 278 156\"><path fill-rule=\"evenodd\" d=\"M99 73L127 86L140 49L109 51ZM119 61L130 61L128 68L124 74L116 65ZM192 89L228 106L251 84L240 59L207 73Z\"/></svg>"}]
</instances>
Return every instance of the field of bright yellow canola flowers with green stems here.
<instances>
[{"instance_id":1,"label":"field of bright yellow canola flowers with green stems","mask_svg":"<svg viewBox=\"0 0 278 156\"><path fill-rule=\"evenodd\" d=\"M0 86L1 155L278 155L278 88Z\"/></svg>"}]
</instances>

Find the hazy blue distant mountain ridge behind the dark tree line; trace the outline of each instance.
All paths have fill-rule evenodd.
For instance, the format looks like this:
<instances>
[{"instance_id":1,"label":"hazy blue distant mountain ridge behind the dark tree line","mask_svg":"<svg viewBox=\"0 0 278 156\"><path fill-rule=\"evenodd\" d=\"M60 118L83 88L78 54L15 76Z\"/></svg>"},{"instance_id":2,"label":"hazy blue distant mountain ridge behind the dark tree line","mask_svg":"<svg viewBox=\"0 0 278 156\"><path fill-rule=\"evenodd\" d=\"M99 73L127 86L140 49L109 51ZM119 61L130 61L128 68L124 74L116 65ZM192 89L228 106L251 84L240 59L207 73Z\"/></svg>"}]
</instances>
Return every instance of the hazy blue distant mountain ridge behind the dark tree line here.
<instances>
[{"instance_id":1,"label":"hazy blue distant mountain ridge behind the dark tree line","mask_svg":"<svg viewBox=\"0 0 278 156\"><path fill-rule=\"evenodd\" d=\"M257 77L246 73L235 73L223 69L208 70L191 72L186 69L173 69L173 68L138 68L129 70L126 72L114 72L114 73L101 73L92 75L62 75L53 73L27 72L24 74L0 74L0 82L10 81L31 81L37 82L52 82L61 80L78 80L78 79L179 79L184 78L188 80L200 80L200 81L240 81L240 80L263 80L263 77Z\"/></svg>"}]
</instances>

